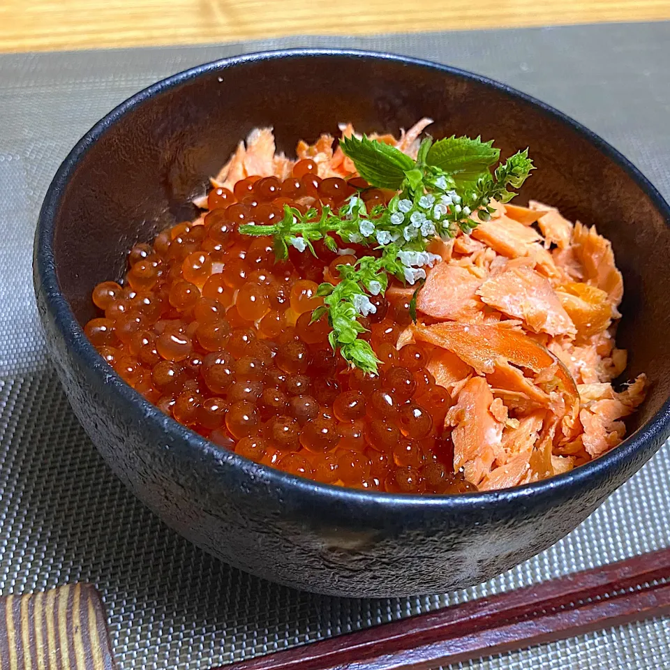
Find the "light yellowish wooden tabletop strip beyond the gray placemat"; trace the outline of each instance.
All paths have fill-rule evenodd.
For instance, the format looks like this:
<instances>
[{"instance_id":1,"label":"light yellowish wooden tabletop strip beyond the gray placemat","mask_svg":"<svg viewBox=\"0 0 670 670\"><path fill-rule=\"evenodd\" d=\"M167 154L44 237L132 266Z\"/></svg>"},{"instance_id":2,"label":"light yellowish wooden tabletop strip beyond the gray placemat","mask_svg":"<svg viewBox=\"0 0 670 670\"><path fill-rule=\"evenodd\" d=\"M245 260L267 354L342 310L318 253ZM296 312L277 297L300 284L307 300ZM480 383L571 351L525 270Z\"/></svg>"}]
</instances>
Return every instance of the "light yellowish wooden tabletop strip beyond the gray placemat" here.
<instances>
[{"instance_id":1,"label":"light yellowish wooden tabletop strip beyond the gray placemat","mask_svg":"<svg viewBox=\"0 0 670 670\"><path fill-rule=\"evenodd\" d=\"M662 19L670 0L0 0L0 52Z\"/></svg>"}]
</instances>

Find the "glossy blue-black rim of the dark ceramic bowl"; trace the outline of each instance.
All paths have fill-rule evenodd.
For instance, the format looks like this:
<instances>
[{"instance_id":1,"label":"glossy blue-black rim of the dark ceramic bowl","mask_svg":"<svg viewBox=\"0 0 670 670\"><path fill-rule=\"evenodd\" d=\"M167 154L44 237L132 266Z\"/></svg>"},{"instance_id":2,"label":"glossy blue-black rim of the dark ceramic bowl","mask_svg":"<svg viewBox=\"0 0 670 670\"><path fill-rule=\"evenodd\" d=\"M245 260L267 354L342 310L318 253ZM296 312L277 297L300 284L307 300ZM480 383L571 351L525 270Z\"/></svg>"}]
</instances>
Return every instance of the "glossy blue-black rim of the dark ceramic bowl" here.
<instances>
[{"instance_id":1,"label":"glossy blue-black rim of the dark ceramic bowl","mask_svg":"<svg viewBox=\"0 0 670 670\"><path fill-rule=\"evenodd\" d=\"M253 52L217 59L182 70L179 73L151 84L149 87L127 98L126 101L120 103L117 107L114 107L112 111L94 124L75 144L63 163L61 163L47 190L42 208L40 209L34 244L34 276L36 290L42 293L48 311L53 315L55 325L64 338L68 350L76 355L81 364L89 368L89 371L93 371L101 384L110 387L110 392L116 394L119 397L119 401L128 405L128 410L133 417L136 417L137 420L141 419L142 422L151 422L154 428L158 430L172 433L174 438L188 445L189 453L186 455L200 455L204 457L201 460L205 464L205 467L211 466L209 459L216 459L219 463L222 462L221 447L217 447L213 442L203 438L198 433L195 433L195 431L182 426L175 419L172 419L172 417L164 415L161 410L145 400L135 389L126 385L117 373L112 371L110 366L103 361L102 357L98 355L96 349L84 335L82 327L77 322L70 304L59 287L52 244L55 220L61 200L68 187L69 179L84 155L91 148L91 145L104 135L110 126L135 109L135 107L144 103L144 101L165 91L175 89L181 84L186 84L196 77L223 71L235 66L251 64L255 61L318 57L395 61L406 66L436 70L468 81L477 82L484 85L484 87L493 89L497 93L505 94L511 98L516 98L517 100L538 107L539 110L549 115L549 117L553 117L563 124L570 126L573 131L588 140L602 154L620 165L639 188L646 193L654 206L664 216L668 225L670 225L670 205L664 200L657 188L620 151L612 147L602 137L596 135L593 131L590 131L586 126L575 121L567 114L537 100L533 96L522 93L502 82L461 68L454 68L415 57L370 50L291 48ZM540 482L515 486L511 489L450 495L384 493L322 484L311 479L290 475L287 472L271 468L270 466L264 466L261 463L255 463L255 461L249 461L243 456L234 454L234 452L226 452L223 461L230 464L234 470L237 470L240 475L245 475L248 479L260 476L264 482L271 484L274 489L281 490L283 493L294 492L308 502L310 499L318 499L320 505L330 502L340 505L345 504L349 510L368 509L368 511L372 511L372 509L378 507L401 506L405 509L416 509L417 512L422 509L427 510L438 507L440 509L447 508L450 512L463 513L467 510L483 510L490 505L502 501L514 505L522 503L528 500L528 498L539 499L546 498L547 496L550 498L558 496L560 498L562 497L560 494L569 494L571 490L581 489L582 486L589 486L594 479L607 477L610 472L623 468L625 462L632 459L646 444L654 441L662 442L668 433L670 433L670 398L664 402L662 407L655 412L648 422L643 424L635 433L625 438L620 445L600 456L600 458L590 461L579 468L565 472L562 475L555 475Z\"/></svg>"}]
</instances>

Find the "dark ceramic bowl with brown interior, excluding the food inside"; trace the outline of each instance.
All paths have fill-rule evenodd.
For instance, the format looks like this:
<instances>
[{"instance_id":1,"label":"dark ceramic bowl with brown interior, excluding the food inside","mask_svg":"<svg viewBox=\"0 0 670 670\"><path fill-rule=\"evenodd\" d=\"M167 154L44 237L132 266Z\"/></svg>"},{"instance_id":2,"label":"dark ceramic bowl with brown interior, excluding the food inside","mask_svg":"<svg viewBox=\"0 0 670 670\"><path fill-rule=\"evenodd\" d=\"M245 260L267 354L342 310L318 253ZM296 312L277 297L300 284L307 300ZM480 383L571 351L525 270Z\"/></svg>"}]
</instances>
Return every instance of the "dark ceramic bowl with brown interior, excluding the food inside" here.
<instances>
[{"instance_id":1,"label":"dark ceramic bowl with brown interior, excluding the food inside","mask_svg":"<svg viewBox=\"0 0 670 670\"><path fill-rule=\"evenodd\" d=\"M315 484L222 451L163 415L98 356L82 325L91 289L119 278L126 251L193 216L241 137L274 126L278 149L337 131L431 133L530 147L519 197L596 223L625 276L619 331L628 377L648 399L601 459L517 489L395 496ZM546 549L660 447L670 428L670 210L608 144L528 96L453 68L382 54L299 50L193 68L133 96L85 135L47 193L35 241L40 317L73 409L119 477L179 533L253 574L345 596L472 585Z\"/></svg>"}]
</instances>

